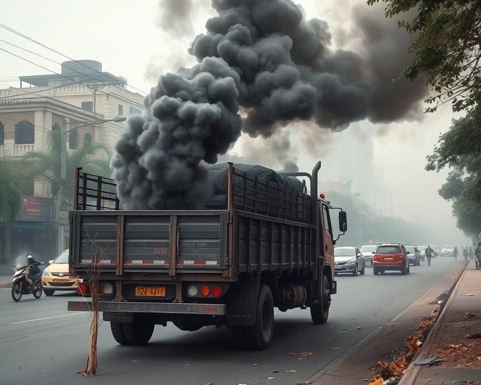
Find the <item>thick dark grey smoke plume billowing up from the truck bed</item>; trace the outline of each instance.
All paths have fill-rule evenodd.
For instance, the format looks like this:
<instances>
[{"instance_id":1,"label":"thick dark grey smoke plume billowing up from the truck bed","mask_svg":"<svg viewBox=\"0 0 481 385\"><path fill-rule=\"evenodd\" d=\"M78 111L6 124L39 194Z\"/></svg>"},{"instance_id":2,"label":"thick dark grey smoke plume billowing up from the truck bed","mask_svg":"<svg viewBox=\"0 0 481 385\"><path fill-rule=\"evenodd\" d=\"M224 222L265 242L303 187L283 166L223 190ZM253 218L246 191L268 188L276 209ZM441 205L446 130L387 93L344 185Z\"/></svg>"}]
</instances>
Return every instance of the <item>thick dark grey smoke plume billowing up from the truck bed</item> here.
<instances>
[{"instance_id":1,"label":"thick dark grey smoke plume billowing up from the truck bed","mask_svg":"<svg viewBox=\"0 0 481 385\"><path fill-rule=\"evenodd\" d=\"M218 16L189 50L199 64L162 75L145 116L130 119L116 143L111 165L126 208L201 208L210 184L199 163L215 163L241 128L269 137L290 121L342 129L411 110L398 103L384 111L376 96L387 85L369 82L375 74L360 55L332 51L327 23L306 20L291 0L212 0L212 7Z\"/></svg>"}]
</instances>

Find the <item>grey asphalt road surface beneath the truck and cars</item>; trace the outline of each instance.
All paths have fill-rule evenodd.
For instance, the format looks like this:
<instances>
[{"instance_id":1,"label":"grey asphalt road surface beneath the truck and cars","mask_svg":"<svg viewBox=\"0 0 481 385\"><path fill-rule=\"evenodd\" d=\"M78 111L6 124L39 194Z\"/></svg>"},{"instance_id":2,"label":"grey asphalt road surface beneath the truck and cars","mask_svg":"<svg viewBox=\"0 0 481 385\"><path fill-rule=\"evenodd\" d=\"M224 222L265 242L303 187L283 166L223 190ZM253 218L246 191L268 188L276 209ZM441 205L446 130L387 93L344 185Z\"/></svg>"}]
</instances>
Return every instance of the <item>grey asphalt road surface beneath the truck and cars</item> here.
<instances>
[{"instance_id":1,"label":"grey asphalt road surface beneath the truck and cars","mask_svg":"<svg viewBox=\"0 0 481 385\"><path fill-rule=\"evenodd\" d=\"M239 350L225 327L187 332L172 324L156 326L147 346L120 346L105 322L98 340L103 374L90 378L77 374L88 352L90 316L67 312L75 294L29 295L14 303L10 289L0 289L0 384L295 384L384 325L459 264L436 258L431 267L411 266L408 276L374 276L371 268L364 276L338 276L329 322L314 325L309 310L277 311L274 340L265 351ZM305 351L313 356L301 359Z\"/></svg>"}]
</instances>

